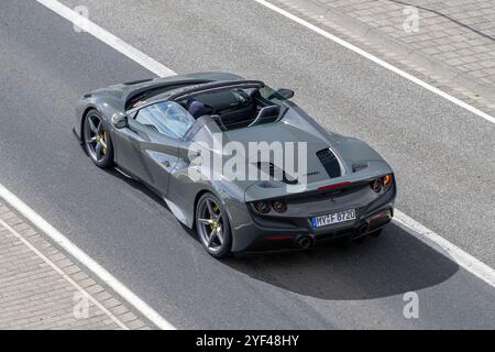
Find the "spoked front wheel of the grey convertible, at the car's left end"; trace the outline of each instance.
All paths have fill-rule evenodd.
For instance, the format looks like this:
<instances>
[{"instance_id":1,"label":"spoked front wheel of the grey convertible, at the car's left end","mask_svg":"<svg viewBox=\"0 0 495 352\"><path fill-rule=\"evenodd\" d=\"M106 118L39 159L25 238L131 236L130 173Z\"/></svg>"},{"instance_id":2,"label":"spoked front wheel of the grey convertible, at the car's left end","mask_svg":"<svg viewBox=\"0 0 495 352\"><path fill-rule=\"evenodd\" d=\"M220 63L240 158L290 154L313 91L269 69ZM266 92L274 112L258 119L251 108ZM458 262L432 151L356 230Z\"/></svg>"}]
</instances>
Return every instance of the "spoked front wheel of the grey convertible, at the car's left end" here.
<instances>
[{"instance_id":1,"label":"spoked front wheel of the grey convertible, at the car's left end","mask_svg":"<svg viewBox=\"0 0 495 352\"><path fill-rule=\"evenodd\" d=\"M113 164L113 144L103 119L97 110L90 110L82 128L85 148L95 165L101 168Z\"/></svg>"}]
</instances>

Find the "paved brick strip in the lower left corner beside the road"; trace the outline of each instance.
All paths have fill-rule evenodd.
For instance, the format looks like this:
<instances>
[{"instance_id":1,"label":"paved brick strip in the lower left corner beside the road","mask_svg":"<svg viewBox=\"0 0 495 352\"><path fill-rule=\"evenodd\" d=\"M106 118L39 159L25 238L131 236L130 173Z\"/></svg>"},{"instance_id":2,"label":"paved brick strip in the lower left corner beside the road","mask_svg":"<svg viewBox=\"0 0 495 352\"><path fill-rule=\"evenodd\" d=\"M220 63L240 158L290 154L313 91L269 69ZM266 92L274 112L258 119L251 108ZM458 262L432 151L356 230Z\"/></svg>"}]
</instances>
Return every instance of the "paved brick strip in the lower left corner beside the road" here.
<instances>
[{"instance_id":1,"label":"paved brick strip in the lower left corner beside the road","mask_svg":"<svg viewBox=\"0 0 495 352\"><path fill-rule=\"evenodd\" d=\"M0 329L150 327L0 198Z\"/></svg>"}]
</instances>

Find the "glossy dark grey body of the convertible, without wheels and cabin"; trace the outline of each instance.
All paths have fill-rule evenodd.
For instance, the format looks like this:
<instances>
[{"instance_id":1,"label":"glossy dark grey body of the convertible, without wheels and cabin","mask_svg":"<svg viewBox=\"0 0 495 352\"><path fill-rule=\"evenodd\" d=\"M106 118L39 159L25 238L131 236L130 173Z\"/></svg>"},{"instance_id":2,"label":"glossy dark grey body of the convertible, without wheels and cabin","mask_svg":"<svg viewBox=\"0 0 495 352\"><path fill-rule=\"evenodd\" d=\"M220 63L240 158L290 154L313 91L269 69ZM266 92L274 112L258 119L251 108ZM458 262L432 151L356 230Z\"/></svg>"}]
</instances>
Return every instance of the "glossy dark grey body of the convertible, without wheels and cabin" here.
<instances>
[{"instance_id":1,"label":"glossy dark grey body of the convertible, without wheels and cabin","mask_svg":"<svg viewBox=\"0 0 495 352\"><path fill-rule=\"evenodd\" d=\"M111 135L118 169L162 197L186 227L195 227L196 204L201 195L216 195L228 213L232 252L308 248L340 235L366 235L391 221L396 197L391 166L366 143L327 131L288 99L277 101L284 114L279 120L226 130L218 120L201 117L178 139L138 122L136 117L146 107L198 95L208 100L209 94L226 87L256 90L264 84L232 74L201 73L99 89L77 103L74 132L81 141L86 113L98 110ZM218 145L215 135L221 135ZM237 142L249 150L253 141L305 142L304 187L287 191L287 182L280 179L226 179L224 175L216 175L221 173L218 169L191 163L190 151L199 145L224 155L227 143ZM385 176L391 177L387 185L383 184ZM268 205L267 212L257 210L260 201ZM285 211L276 211L274 201L283 201ZM323 220L332 219L332 215L339 218L349 210L354 210L353 219L324 224Z\"/></svg>"}]
</instances>

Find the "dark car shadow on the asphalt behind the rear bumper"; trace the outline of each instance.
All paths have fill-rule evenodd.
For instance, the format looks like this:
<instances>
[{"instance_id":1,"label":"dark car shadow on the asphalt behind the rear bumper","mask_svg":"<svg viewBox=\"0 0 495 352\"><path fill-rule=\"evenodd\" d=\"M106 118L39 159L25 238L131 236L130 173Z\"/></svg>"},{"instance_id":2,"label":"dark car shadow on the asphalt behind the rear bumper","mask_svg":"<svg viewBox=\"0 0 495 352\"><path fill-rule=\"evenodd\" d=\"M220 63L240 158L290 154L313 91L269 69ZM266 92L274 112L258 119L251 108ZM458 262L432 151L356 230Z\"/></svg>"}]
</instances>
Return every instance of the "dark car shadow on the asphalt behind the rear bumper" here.
<instances>
[{"instance_id":1,"label":"dark car shadow on the asphalt behind the rear bumper","mask_svg":"<svg viewBox=\"0 0 495 352\"><path fill-rule=\"evenodd\" d=\"M395 224L349 249L229 258L226 265L283 289L327 300L382 298L438 285L459 266Z\"/></svg>"}]
</instances>

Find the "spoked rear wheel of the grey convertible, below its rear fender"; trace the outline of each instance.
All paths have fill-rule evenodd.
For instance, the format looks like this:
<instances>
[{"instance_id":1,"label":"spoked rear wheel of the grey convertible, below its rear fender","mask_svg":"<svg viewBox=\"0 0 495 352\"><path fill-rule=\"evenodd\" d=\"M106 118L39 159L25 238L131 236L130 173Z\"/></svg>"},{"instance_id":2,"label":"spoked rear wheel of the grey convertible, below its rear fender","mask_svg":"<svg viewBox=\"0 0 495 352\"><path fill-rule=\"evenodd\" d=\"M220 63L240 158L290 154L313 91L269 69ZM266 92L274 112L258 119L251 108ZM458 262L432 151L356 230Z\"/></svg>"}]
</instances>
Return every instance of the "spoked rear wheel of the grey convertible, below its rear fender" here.
<instances>
[{"instance_id":1,"label":"spoked rear wheel of the grey convertible, below its rear fender","mask_svg":"<svg viewBox=\"0 0 495 352\"><path fill-rule=\"evenodd\" d=\"M227 213L220 200L208 193L198 201L196 228L206 251L213 257L222 258L231 254L232 234Z\"/></svg>"}]
</instances>

